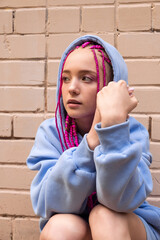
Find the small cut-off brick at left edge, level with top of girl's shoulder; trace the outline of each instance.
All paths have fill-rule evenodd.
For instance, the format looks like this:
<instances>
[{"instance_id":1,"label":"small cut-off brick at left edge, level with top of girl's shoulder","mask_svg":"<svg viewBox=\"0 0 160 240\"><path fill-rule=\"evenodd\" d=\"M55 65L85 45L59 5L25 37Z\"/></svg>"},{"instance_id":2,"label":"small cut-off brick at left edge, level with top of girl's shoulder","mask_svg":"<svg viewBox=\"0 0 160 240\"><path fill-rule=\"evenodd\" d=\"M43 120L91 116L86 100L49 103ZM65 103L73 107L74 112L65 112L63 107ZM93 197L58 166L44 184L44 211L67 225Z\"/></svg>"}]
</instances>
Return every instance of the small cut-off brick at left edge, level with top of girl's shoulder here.
<instances>
[{"instance_id":1,"label":"small cut-off brick at left edge, level with top of girl's shoulder","mask_svg":"<svg viewBox=\"0 0 160 240\"><path fill-rule=\"evenodd\" d=\"M12 116L0 114L0 137L10 137L12 131Z\"/></svg>"}]
</instances>

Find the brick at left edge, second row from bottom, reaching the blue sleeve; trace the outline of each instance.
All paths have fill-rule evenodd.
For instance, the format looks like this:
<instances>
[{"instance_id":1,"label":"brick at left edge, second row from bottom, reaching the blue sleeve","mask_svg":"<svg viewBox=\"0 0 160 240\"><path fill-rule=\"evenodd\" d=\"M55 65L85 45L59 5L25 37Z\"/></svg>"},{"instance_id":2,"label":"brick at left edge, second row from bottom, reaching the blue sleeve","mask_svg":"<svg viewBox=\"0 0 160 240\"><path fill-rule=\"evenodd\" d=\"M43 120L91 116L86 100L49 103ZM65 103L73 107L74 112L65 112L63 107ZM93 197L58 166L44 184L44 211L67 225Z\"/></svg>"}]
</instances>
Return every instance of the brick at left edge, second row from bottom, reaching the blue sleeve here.
<instances>
[{"instance_id":1,"label":"brick at left edge, second row from bottom, reaching the blue sleeve","mask_svg":"<svg viewBox=\"0 0 160 240\"><path fill-rule=\"evenodd\" d=\"M3 215L35 216L29 192L0 190L0 206Z\"/></svg>"}]
</instances>

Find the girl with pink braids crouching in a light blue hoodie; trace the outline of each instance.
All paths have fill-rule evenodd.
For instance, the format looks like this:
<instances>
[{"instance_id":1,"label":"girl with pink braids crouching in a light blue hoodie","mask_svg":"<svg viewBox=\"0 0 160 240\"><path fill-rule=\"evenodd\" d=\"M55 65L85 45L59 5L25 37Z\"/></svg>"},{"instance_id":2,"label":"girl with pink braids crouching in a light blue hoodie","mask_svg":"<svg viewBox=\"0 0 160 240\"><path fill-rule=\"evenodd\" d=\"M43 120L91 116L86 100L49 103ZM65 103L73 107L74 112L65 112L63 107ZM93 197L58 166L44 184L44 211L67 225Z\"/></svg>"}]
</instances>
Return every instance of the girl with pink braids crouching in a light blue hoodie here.
<instances>
[{"instance_id":1,"label":"girl with pink braids crouching in a light blue hoodie","mask_svg":"<svg viewBox=\"0 0 160 240\"><path fill-rule=\"evenodd\" d=\"M55 118L44 121L27 159L40 240L158 240L147 130L122 56L96 36L64 52Z\"/></svg>"}]
</instances>

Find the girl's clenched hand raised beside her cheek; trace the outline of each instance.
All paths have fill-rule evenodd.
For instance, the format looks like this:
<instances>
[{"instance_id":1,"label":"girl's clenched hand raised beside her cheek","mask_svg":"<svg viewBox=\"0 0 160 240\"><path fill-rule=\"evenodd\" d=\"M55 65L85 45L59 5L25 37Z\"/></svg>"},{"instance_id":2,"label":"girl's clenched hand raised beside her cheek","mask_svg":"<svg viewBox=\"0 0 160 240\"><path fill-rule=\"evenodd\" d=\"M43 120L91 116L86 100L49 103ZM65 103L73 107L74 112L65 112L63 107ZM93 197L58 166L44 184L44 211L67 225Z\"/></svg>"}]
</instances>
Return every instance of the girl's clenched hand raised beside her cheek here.
<instances>
[{"instance_id":1,"label":"girl's clenched hand raised beside her cheek","mask_svg":"<svg viewBox=\"0 0 160 240\"><path fill-rule=\"evenodd\" d=\"M97 94L97 109L101 117L101 127L109 127L125 122L128 114L138 101L124 80L110 82Z\"/></svg>"}]
</instances>

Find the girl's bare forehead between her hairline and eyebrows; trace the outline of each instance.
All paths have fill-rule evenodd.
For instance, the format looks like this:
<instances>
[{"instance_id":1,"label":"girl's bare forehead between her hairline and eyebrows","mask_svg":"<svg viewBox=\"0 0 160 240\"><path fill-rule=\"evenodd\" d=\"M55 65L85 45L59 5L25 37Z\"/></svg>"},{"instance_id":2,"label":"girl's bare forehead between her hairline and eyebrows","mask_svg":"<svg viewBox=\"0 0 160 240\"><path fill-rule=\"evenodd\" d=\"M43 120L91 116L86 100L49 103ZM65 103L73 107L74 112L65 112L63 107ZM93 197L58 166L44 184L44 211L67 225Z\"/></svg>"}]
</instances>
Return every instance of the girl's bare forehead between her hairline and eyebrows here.
<instances>
[{"instance_id":1,"label":"girl's bare forehead between her hairline and eyebrows","mask_svg":"<svg viewBox=\"0 0 160 240\"><path fill-rule=\"evenodd\" d=\"M74 67L95 70L96 65L92 50L87 47L79 47L71 52L65 61L64 70Z\"/></svg>"}]
</instances>

